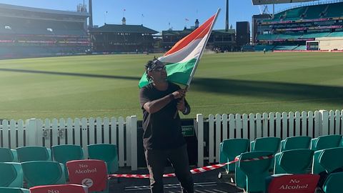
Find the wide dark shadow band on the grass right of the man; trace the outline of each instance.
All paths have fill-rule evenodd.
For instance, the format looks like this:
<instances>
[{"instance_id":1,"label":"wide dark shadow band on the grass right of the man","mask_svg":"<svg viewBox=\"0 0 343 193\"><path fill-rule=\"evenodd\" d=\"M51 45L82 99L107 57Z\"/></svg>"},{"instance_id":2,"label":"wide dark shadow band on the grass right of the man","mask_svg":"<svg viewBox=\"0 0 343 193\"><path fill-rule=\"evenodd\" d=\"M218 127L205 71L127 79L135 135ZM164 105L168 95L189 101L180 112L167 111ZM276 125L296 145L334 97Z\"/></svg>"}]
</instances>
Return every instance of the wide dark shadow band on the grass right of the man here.
<instances>
[{"instance_id":1,"label":"wide dark shadow band on the grass right of the man","mask_svg":"<svg viewBox=\"0 0 343 193\"><path fill-rule=\"evenodd\" d=\"M328 103L342 104L343 87L295 84L273 81L245 81L236 79L195 78L192 89L218 94L233 94L270 99L328 99Z\"/></svg>"}]
</instances>

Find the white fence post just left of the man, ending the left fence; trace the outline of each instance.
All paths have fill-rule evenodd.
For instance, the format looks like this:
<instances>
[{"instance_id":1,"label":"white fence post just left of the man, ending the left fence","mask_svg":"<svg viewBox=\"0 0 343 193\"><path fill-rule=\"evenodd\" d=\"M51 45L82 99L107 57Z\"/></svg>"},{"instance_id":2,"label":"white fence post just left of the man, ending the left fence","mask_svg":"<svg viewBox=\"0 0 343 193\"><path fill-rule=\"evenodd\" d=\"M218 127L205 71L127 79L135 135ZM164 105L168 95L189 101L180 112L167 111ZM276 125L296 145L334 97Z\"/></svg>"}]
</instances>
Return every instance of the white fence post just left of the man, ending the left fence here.
<instances>
[{"instance_id":1,"label":"white fence post just left of the man, ending the left fence","mask_svg":"<svg viewBox=\"0 0 343 193\"><path fill-rule=\"evenodd\" d=\"M137 117L131 116L131 170L137 170Z\"/></svg>"}]
</instances>

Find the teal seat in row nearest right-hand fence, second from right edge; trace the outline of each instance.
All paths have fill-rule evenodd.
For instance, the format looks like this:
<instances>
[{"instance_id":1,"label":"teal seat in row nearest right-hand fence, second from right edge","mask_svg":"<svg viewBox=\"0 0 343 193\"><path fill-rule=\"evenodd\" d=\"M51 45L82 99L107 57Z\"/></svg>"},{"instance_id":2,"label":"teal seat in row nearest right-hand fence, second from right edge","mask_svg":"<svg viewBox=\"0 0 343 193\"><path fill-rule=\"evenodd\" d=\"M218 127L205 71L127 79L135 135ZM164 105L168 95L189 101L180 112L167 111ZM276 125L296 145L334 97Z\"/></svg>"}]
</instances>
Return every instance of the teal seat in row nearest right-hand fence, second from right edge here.
<instances>
[{"instance_id":1,"label":"teal seat in row nearest right-hand fence, second from right edge","mask_svg":"<svg viewBox=\"0 0 343 193\"><path fill-rule=\"evenodd\" d=\"M281 152L291 149L309 149L311 144L311 137L308 136L294 136L287 137L281 141Z\"/></svg>"}]
</instances>

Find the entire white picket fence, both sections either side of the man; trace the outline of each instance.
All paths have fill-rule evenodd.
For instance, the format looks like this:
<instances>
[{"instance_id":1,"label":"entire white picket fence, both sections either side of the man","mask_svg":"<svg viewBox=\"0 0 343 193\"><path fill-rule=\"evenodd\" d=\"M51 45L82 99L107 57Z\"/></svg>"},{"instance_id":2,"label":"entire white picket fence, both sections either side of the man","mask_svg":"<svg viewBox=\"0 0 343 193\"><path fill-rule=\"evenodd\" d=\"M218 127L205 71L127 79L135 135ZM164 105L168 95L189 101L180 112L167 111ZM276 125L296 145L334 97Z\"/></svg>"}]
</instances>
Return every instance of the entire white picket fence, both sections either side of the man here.
<instances>
[{"instance_id":1,"label":"entire white picket fence, both sections either side of the man","mask_svg":"<svg viewBox=\"0 0 343 193\"><path fill-rule=\"evenodd\" d=\"M291 136L318 137L343 134L342 111L289 112L264 114L210 114L204 119L197 114L194 122L197 134L198 166L204 161L219 162L219 144L224 139ZM82 119L3 120L0 124L0 146L15 149L23 146L78 144L87 156L88 144L116 144L119 167L137 169L136 116Z\"/></svg>"}]
</instances>

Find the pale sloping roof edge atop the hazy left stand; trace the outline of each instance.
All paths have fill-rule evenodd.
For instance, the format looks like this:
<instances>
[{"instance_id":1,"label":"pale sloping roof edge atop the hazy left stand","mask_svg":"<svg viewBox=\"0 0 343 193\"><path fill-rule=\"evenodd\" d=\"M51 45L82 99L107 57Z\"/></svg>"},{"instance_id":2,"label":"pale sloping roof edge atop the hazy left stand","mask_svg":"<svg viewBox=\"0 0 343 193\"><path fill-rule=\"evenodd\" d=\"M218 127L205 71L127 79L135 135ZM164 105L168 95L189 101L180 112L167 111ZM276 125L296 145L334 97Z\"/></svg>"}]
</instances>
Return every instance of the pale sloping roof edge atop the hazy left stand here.
<instances>
[{"instance_id":1,"label":"pale sloping roof edge atop the hazy left stand","mask_svg":"<svg viewBox=\"0 0 343 193\"><path fill-rule=\"evenodd\" d=\"M13 9L16 11L32 11L32 12L38 12L38 13L44 13L44 14L62 14L62 15L73 15L73 16L85 16L85 17L89 16L89 13L86 13L86 12L40 9L40 8L34 8L34 7L29 7L29 6L15 6L15 5L9 5L9 4L0 4L0 9Z\"/></svg>"}]
</instances>

